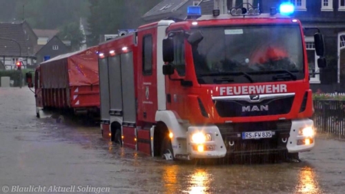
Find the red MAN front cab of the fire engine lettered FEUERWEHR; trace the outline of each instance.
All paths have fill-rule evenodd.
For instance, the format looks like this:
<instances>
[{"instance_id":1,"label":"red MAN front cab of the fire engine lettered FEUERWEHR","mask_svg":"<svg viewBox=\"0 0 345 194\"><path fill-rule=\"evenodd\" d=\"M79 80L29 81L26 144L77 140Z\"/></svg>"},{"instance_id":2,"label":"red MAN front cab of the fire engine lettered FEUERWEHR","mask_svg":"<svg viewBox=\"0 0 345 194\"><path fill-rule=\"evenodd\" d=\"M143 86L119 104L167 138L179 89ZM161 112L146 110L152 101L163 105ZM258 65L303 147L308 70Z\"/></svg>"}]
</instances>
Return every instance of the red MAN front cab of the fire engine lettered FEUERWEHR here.
<instances>
[{"instance_id":1,"label":"red MAN front cab of the fire engine lettered FEUERWEHR","mask_svg":"<svg viewBox=\"0 0 345 194\"><path fill-rule=\"evenodd\" d=\"M163 41L168 107L180 121L168 126L174 157L311 151L315 145L312 91L302 24L254 6L230 14L172 23ZM315 35L319 68L326 66L324 39ZM169 106L170 105L170 106ZM181 135L186 131L187 135ZM186 136L186 151L181 139Z\"/></svg>"}]
</instances>

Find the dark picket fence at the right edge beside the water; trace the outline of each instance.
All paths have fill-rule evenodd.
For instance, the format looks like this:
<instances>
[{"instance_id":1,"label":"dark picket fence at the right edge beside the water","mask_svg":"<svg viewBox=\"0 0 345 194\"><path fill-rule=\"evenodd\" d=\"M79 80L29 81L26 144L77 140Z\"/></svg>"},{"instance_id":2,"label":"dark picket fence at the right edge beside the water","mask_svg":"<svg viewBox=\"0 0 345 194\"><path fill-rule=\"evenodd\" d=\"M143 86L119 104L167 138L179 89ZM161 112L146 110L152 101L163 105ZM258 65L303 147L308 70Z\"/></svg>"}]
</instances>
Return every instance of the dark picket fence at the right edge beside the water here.
<instances>
[{"instance_id":1,"label":"dark picket fence at the right edge beside the water","mask_svg":"<svg viewBox=\"0 0 345 194\"><path fill-rule=\"evenodd\" d=\"M317 95L313 104L313 119L317 130L345 136L345 94Z\"/></svg>"}]
</instances>

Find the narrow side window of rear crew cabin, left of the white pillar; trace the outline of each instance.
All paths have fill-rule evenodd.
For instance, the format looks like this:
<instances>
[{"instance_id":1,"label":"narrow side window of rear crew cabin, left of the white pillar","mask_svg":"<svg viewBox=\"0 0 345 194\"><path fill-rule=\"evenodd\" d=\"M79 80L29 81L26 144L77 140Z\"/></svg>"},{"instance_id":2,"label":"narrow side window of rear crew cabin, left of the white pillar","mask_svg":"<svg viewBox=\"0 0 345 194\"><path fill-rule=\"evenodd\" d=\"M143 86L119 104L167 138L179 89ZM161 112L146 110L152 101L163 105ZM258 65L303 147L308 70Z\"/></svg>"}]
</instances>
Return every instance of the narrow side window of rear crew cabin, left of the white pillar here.
<instances>
[{"instance_id":1,"label":"narrow side window of rear crew cabin, left of the white pillar","mask_svg":"<svg viewBox=\"0 0 345 194\"><path fill-rule=\"evenodd\" d=\"M152 35L143 38L143 74L152 74Z\"/></svg>"}]
</instances>

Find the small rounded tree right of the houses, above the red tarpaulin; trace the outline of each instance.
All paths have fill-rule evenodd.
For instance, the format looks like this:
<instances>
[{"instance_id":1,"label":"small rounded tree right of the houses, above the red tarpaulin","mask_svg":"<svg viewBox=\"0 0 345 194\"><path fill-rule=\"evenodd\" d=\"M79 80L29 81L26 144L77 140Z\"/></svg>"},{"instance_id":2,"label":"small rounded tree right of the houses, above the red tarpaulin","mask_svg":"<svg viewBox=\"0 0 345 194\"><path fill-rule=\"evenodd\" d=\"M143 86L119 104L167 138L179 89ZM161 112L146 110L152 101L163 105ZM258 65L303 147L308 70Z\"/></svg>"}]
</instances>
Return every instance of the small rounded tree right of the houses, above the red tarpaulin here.
<instances>
[{"instance_id":1,"label":"small rounded tree right of the houses, above the red tarpaulin","mask_svg":"<svg viewBox=\"0 0 345 194\"><path fill-rule=\"evenodd\" d=\"M79 23L75 22L66 23L61 26L57 36L61 40L70 40L72 51L79 50L81 41L84 39L83 33L79 28Z\"/></svg>"}]
</instances>

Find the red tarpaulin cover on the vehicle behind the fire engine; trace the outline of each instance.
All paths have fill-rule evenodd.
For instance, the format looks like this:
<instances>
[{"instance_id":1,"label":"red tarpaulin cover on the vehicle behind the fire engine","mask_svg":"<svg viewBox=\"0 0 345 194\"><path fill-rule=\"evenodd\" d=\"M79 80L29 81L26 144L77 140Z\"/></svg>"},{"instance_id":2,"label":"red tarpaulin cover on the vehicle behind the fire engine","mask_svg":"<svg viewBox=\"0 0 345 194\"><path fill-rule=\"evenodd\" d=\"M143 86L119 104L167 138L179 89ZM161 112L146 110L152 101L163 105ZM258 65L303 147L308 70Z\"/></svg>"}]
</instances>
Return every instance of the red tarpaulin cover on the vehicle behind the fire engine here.
<instances>
[{"instance_id":1,"label":"red tarpaulin cover on the vehicle behind the fire engine","mask_svg":"<svg viewBox=\"0 0 345 194\"><path fill-rule=\"evenodd\" d=\"M42 88L99 85L97 50L94 46L41 63Z\"/></svg>"}]
</instances>

